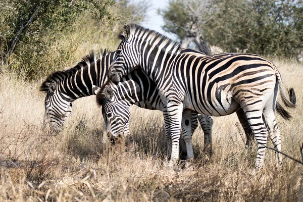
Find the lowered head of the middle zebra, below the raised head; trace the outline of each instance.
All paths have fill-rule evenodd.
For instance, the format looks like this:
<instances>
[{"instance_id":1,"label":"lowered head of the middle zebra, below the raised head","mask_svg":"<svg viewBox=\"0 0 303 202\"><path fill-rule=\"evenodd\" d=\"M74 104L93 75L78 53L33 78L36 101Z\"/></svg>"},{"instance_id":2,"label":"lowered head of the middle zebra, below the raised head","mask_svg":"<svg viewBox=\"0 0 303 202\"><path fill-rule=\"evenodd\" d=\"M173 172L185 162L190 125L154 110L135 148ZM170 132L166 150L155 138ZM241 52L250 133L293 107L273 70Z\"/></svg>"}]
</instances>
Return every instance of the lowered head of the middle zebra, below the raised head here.
<instances>
[{"instance_id":1,"label":"lowered head of the middle zebra, below the raised head","mask_svg":"<svg viewBox=\"0 0 303 202\"><path fill-rule=\"evenodd\" d=\"M119 101L109 85L103 86L95 93L98 105L102 106L108 138L114 144L117 138L126 136L129 131L129 106Z\"/></svg>"}]
</instances>

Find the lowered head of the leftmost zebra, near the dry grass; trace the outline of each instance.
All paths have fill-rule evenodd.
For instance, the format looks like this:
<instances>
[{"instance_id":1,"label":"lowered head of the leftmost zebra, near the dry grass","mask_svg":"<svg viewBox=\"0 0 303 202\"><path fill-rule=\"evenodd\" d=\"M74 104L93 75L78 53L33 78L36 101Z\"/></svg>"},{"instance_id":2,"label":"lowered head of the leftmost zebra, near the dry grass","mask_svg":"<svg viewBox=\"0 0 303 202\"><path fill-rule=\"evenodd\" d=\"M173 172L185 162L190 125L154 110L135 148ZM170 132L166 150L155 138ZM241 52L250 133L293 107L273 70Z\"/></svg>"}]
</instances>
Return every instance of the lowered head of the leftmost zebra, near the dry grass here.
<instances>
[{"instance_id":1,"label":"lowered head of the leftmost zebra, near the dry grass","mask_svg":"<svg viewBox=\"0 0 303 202\"><path fill-rule=\"evenodd\" d=\"M45 83L43 84L40 89L46 91L44 118L51 124L51 129L60 131L60 127L72 112L72 101L61 93L57 83L48 83L47 90Z\"/></svg>"}]
</instances>

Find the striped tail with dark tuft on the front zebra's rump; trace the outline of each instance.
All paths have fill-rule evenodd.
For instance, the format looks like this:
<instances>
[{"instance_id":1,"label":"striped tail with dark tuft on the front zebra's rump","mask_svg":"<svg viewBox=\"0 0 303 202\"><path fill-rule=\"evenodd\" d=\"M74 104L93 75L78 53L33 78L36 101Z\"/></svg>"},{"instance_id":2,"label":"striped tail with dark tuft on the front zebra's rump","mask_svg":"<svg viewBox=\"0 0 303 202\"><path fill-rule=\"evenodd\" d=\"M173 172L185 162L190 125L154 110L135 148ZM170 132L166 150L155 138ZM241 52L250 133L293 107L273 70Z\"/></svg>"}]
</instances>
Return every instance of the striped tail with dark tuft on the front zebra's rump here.
<instances>
[{"instance_id":1,"label":"striped tail with dark tuft on the front zebra's rump","mask_svg":"<svg viewBox=\"0 0 303 202\"><path fill-rule=\"evenodd\" d=\"M296 107L296 105L295 105L296 97L295 97L294 89L293 88L291 88L291 89L286 88L284 86L283 82L282 82L281 74L280 74L280 72L278 71L277 68L275 69L275 72L276 72L276 77L277 77L278 82L279 82L280 95L281 95L281 98L282 98L282 101L283 101L284 105L288 108L295 108ZM289 100L287 99L287 97L285 95L284 88L287 89Z\"/></svg>"}]
</instances>

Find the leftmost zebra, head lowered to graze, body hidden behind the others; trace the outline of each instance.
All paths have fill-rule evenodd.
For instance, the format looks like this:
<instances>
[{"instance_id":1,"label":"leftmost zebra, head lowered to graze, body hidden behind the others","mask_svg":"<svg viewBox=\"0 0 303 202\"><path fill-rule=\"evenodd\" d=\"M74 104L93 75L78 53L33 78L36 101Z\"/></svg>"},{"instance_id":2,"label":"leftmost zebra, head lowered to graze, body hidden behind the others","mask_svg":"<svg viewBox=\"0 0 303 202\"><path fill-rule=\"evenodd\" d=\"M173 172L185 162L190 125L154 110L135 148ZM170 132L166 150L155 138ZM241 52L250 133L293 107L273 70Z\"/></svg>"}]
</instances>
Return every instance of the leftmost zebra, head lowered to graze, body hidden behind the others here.
<instances>
[{"instance_id":1,"label":"leftmost zebra, head lowered to graze, body hidden behind the others","mask_svg":"<svg viewBox=\"0 0 303 202\"><path fill-rule=\"evenodd\" d=\"M191 49L184 49L184 53L201 54ZM104 49L96 53L91 52L85 56L80 63L71 69L57 71L49 75L41 84L40 91L46 92L44 107L45 117L51 123L52 130L60 131L65 120L72 112L72 102L78 98L94 95L97 86L102 86L107 80L107 71L110 67L116 52ZM147 102L139 102L138 107L154 110ZM192 118L192 126L197 127L197 120ZM212 153L211 129L213 120L211 117L199 116L199 122L205 132L205 139L208 153ZM168 122L166 122L169 126ZM124 134L129 134L129 122L124 125ZM185 127L184 127L185 128ZM187 127L188 128L188 127ZM187 129L187 131L190 129ZM166 127L166 132L169 129ZM186 131L184 131L186 135ZM169 136L169 135L167 135ZM181 146L182 147L182 146ZM207 150L208 149L208 150Z\"/></svg>"}]
</instances>

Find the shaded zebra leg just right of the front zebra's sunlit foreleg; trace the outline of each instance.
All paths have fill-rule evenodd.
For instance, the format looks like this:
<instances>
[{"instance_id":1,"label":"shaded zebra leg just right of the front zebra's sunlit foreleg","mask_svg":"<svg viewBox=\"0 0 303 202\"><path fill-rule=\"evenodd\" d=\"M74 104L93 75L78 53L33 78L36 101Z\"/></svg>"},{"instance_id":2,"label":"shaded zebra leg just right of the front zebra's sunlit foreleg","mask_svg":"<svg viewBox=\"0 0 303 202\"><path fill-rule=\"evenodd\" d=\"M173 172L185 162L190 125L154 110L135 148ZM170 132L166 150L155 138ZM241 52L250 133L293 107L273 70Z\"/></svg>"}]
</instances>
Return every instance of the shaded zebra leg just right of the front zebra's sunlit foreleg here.
<instances>
[{"instance_id":1,"label":"shaded zebra leg just right of the front zebra's sunlit foreleg","mask_svg":"<svg viewBox=\"0 0 303 202\"><path fill-rule=\"evenodd\" d=\"M195 116L195 120L196 120ZM187 153L187 159L193 158L193 150L192 150L192 143L191 143L191 137L192 137L192 128L191 128L191 110L185 109L182 113L182 138L186 145L186 153ZM181 140L180 140L181 141ZM181 142L180 142L181 143Z\"/></svg>"}]
</instances>

